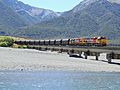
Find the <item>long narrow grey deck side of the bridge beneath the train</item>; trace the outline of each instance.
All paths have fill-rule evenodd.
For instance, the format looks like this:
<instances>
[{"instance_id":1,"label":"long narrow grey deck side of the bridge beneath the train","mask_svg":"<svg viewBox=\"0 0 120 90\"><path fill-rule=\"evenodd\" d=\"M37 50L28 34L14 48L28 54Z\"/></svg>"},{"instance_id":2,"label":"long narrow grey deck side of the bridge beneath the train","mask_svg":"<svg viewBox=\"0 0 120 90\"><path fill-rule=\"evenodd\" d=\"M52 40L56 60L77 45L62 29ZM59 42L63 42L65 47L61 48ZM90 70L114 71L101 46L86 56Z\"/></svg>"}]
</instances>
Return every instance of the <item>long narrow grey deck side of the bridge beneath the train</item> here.
<instances>
[{"instance_id":1,"label":"long narrow grey deck side of the bridge beneath the train","mask_svg":"<svg viewBox=\"0 0 120 90\"><path fill-rule=\"evenodd\" d=\"M120 48L118 49L113 49L113 48L108 48L108 47L75 47L75 46L37 46L37 45L29 45L29 47L36 47L36 48L49 48L49 49L66 49L66 50L75 50L75 51L90 51L90 52L96 52L96 53L115 53L115 54L120 54Z\"/></svg>"}]
</instances>

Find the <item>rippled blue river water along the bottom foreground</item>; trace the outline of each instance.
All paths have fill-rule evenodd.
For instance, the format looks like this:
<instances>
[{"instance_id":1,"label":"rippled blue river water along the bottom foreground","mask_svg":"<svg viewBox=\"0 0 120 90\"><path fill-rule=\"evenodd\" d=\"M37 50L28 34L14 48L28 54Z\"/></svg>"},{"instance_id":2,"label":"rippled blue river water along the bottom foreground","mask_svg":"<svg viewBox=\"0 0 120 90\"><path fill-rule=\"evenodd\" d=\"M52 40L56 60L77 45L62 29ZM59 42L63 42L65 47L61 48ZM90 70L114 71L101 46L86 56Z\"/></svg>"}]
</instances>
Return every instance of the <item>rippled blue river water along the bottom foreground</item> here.
<instances>
[{"instance_id":1,"label":"rippled blue river water along the bottom foreground","mask_svg":"<svg viewBox=\"0 0 120 90\"><path fill-rule=\"evenodd\" d=\"M120 73L0 71L0 90L120 90Z\"/></svg>"}]
</instances>

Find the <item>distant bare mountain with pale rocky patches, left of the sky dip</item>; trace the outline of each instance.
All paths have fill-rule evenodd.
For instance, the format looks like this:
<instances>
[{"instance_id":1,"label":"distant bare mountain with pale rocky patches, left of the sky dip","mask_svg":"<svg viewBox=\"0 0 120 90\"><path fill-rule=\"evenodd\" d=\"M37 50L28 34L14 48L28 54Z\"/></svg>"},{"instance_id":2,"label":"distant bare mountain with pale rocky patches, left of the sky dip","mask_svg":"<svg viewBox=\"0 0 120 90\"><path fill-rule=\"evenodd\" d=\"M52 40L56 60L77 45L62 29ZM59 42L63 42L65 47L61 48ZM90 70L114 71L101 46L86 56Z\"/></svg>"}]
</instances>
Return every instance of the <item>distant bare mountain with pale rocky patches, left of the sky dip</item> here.
<instances>
[{"instance_id":1,"label":"distant bare mountain with pale rocky patches, left of the sky dip","mask_svg":"<svg viewBox=\"0 0 120 90\"><path fill-rule=\"evenodd\" d=\"M24 4L18 0L2 0L7 6L21 16L28 25L40 23L60 16L60 13Z\"/></svg>"}]
</instances>

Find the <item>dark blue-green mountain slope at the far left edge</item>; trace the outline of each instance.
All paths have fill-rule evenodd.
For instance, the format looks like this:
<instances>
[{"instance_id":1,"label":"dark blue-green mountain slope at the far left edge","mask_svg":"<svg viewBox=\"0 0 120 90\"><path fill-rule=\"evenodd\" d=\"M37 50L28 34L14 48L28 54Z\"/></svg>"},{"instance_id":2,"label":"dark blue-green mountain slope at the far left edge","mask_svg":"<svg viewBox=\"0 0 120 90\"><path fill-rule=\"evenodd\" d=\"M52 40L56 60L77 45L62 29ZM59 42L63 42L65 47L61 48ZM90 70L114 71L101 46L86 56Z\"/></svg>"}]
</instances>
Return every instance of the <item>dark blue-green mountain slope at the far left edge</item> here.
<instances>
[{"instance_id":1,"label":"dark blue-green mountain slope at the far left edge","mask_svg":"<svg viewBox=\"0 0 120 90\"><path fill-rule=\"evenodd\" d=\"M9 35L12 29L25 25L25 21L0 0L0 35Z\"/></svg>"}]
</instances>

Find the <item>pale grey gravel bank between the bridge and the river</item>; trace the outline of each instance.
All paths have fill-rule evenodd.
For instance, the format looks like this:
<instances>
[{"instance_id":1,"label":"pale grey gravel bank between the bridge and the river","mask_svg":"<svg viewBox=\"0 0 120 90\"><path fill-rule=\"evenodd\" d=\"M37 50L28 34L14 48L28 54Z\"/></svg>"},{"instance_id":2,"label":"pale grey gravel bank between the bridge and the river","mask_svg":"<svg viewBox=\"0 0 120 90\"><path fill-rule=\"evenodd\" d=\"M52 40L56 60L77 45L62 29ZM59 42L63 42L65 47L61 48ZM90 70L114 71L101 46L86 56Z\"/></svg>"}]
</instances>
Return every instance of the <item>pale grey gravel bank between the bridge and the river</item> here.
<instances>
[{"instance_id":1,"label":"pale grey gravel bank between the bridge and the river","mask_svg":"<svg viewBox=\"0 0 120 90\"><path fill-rule=\"evenodd\" d=\"M69 57L66 53L0 47L0 70L73 70L120 72L120 65L108 64L105 54L99 61ZM113 60L120 63L120 60Z\"/></svg>"}]
</instances>

